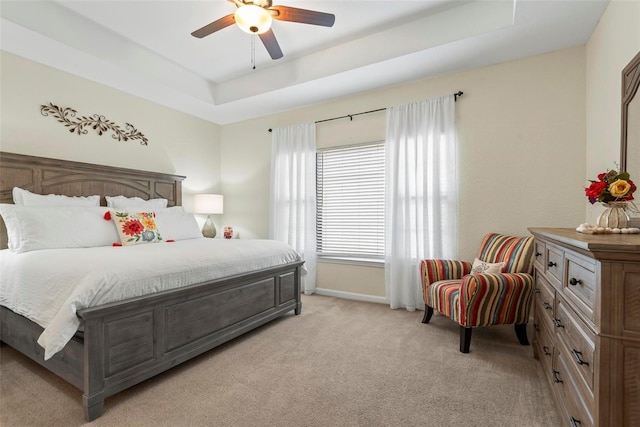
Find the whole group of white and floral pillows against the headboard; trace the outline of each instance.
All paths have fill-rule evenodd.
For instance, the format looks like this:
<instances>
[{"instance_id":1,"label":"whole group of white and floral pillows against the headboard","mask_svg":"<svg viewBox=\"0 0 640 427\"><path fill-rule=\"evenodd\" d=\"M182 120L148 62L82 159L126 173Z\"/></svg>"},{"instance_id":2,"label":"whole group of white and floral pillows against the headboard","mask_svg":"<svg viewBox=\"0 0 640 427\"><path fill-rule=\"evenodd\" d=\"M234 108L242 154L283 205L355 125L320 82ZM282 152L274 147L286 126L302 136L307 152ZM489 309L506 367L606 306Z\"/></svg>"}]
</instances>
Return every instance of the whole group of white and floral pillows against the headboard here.
<instances>
[{"instance_id":1,"label":"whole group of white and floral pillows against the headboard","mask_svg":"<svg viewBox=\"0 0 640 427\"><path fill-rule=\"evenodd\" d=\"M18 187L13 189L13 199L15 204L0 204L13 252L203 238L193 214L185 213L181 206L167 208L167 199L108 197L112 206L104 207L97 195L40 195ZM106 212L117 212L111 216L114 221L105 221ZM147 224L133 240L133 228L123 234L115 222L125 217Z\"/></svg>"}]
</instances>

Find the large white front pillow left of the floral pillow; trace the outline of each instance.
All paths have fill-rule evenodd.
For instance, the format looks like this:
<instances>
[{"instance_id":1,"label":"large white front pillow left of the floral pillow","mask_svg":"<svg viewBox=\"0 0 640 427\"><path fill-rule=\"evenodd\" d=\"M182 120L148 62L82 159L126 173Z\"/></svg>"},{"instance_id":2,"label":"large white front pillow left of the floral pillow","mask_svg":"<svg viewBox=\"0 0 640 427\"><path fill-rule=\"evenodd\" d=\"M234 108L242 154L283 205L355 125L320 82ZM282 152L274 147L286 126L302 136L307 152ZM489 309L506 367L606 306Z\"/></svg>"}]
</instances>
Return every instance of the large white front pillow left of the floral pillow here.
<instances>
[{"instance_id":1,"label":"large white front pillow left of the floral pillow","mask_svg":"<svg viewBox=\"0 0 640 427\"><path fill-rule=\"evenodd\" d=\"M120 241L106 208L0 205L14 252L111 246Z\"/></svg>"}]
</instances>

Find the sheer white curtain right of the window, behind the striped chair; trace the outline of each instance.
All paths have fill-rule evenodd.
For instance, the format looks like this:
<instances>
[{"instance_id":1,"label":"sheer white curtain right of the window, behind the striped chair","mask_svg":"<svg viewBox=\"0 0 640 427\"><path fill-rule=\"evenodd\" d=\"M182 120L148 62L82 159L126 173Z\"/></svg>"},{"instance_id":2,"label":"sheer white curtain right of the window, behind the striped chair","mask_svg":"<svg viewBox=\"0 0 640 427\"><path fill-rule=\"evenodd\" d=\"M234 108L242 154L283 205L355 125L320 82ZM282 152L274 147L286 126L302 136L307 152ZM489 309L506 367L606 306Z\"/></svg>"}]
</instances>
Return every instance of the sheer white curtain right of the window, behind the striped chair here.
<instances>
[{"instance_id":1,"label":"sheer white curtain right of the window, behind the striped chair","mask_svg":"<svg viewBox=\"0 0 640 427\"><path fill-rule=\"evenodd\" d=\"M385 287L391 308L424 309L419 262L457 252L455 99L387 108Z\"/></svg>"}]
</instances>

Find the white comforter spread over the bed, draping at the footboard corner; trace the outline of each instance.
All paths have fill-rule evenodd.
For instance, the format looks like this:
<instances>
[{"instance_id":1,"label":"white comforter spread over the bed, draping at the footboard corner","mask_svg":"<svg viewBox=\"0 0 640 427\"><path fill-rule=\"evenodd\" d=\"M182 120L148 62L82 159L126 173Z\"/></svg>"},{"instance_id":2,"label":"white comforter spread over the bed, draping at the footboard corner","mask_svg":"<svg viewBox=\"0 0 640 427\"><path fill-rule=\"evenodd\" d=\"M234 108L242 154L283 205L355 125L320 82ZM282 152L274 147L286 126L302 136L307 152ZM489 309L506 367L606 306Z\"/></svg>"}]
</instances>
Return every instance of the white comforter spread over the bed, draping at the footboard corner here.
<instances>
[{"instance_id":1,"label":"white comforter spread over the bed, draping at the footboard corner","mask_svg":"<svg viewBox=\"0 0 640 427\"><path fill-rule=\"evenodd\" d=\"M301 260L273 240L190 239L123 247L0 251L0 305L44 328L45 360L80 326L76 312Z\"/></svg>"}]
</instances>

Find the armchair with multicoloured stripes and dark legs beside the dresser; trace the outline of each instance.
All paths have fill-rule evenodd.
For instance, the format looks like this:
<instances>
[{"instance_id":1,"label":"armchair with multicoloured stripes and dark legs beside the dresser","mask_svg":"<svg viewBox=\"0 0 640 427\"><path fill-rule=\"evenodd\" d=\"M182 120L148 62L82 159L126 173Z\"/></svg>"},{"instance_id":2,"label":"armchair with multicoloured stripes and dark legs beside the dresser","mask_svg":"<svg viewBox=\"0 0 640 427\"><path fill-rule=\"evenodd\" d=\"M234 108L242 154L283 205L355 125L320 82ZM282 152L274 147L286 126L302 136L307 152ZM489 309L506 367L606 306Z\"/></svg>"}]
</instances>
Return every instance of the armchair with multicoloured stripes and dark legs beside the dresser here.
<instances>
[{"instance_id":1,"label":"armchair with multicoloured stripes and dark legs beside the dresser","mask_svg":"<svg viewBox=\"0 0 640 427\"><path fill-rule=\"evenodd\" d=\"M422 323L433 310L460 325L460 351L469 352L472 328L514 324L522 345L528 345L527 322L533 295L533 236L487 234L478 259L504 262L497 274L471 273L472 263L455 260L420 262L426 304Z\"/></svg>"}]
</instances>

